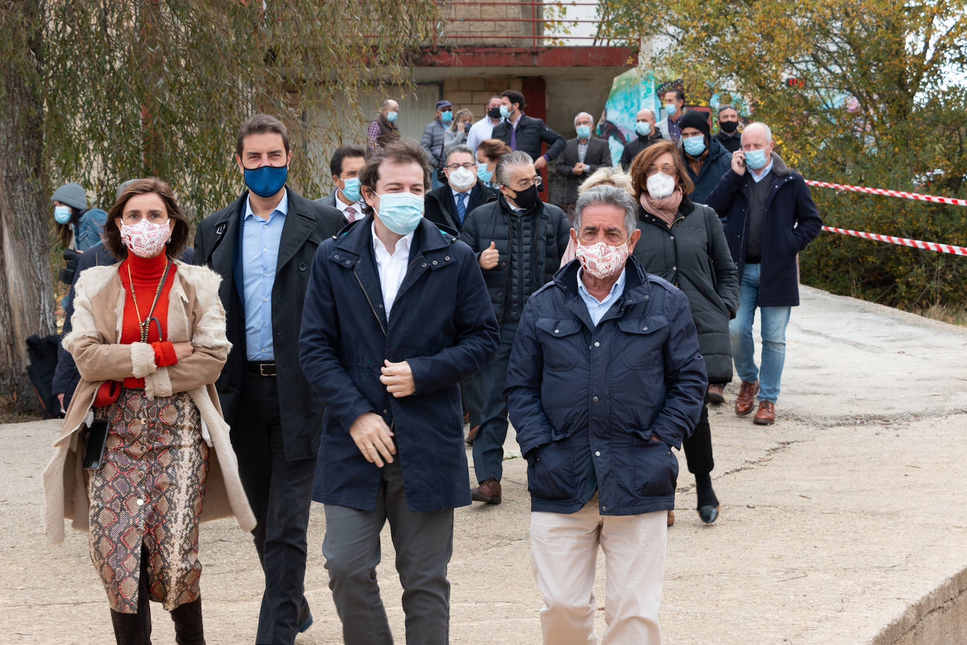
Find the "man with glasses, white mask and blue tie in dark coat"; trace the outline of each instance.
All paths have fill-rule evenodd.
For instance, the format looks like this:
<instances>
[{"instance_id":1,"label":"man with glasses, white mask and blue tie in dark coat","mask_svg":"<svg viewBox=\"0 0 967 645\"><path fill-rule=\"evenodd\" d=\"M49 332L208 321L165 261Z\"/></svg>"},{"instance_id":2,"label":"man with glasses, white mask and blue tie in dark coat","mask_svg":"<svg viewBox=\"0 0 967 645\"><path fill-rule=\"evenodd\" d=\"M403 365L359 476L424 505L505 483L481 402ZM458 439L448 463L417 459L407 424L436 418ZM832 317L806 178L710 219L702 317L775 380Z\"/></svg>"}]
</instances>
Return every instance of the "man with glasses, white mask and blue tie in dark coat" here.
<instances>
[{"instance_id":1,"label":"man with glasses, white mask and blue tie in dark coat","mask_svg":"<svg viewBox=\"0 0 967 645\"><path fill-rule=\"evenodd\" d=\"M497 191L477 181L477 158L465 145L447 151L447 184L426 194L424 217L459 235L467 214L497 198Z\"/></svg>"}]
</instances>

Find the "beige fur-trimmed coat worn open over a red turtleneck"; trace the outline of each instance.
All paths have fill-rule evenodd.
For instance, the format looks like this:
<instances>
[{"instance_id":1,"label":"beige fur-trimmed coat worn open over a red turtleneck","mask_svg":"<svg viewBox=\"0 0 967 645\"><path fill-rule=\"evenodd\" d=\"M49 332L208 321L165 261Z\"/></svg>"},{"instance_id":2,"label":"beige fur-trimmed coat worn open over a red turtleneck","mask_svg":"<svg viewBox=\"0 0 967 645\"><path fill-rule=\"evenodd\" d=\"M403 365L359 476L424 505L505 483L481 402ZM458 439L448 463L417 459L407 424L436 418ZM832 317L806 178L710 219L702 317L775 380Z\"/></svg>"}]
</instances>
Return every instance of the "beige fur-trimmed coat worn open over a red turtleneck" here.
<instances>
[{"instance_id":1,"label":"beige fur-trimmed coat worn open over a red turtleneck","mask_svg":"<svg viewBox=\"0 0 967 645\"><path fill-rule=\"evenodd\" d=\"M74 529L88 530L89 505L81 469L85 444L78 430L101 384L129 376L144 379L146 396L187 392L198 407L206 441L212 447L201 521L234 515L246 531L255 528L214 385L231 349L219 299L221 279L207 267L175 264L178 270L168 294L167 335L172 342L190 340L194 352L173 366L156 366L155 352L148 343L120 344L126 293L117 264L91 267L77 279L73 331L63 344L77 364L80 383L54 442L53 457L44 468L48 544L64 541L65 518L72 520Z\"/></svg>"}]
</instances>

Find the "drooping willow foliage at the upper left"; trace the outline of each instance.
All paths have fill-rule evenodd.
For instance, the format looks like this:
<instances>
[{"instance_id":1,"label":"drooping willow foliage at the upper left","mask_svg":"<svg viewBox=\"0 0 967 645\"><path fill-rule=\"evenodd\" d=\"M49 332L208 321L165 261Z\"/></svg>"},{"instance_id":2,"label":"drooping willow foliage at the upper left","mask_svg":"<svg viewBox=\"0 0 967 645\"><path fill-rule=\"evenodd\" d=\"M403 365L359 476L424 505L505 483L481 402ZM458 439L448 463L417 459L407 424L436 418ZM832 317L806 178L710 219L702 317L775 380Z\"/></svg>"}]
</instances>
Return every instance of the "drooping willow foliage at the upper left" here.
<instances>
[{"instance_id":1,"label":"drooping willow foliage at the upper left","mask_svg":"<svg viewBox=\"0 0 967 645\"><path fill-rule=\"evenodd\" d=\"M231 154L249 115L277 115L298 141L313 106L358 109L374 84L407 83L436 10L431 0L100 0L48 13L54 173L86 180L104 203L121 181L157 175L201 216L241 189ZM328 123L313 140L337 140ZM291 170L308 194L328 175L308 156Z\"/></svg>"}]
</instances>

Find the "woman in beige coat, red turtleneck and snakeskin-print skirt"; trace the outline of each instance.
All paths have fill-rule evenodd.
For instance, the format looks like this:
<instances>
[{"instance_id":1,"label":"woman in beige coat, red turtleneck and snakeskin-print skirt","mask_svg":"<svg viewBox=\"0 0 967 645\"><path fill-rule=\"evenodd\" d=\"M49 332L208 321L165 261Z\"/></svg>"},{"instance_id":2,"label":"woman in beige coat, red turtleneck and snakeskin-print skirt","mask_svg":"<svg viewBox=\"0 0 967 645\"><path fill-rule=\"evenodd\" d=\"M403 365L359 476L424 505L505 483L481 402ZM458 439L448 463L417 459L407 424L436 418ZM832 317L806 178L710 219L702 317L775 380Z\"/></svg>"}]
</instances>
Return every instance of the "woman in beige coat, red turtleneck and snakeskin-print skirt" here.
<instances>
[{"instance_id":1,"label":"woman in beige coat, red turtleneck and snakeskin-print skirt","mask_svg":"<svg viewBox=\"0 0 967 645\"><path fill-rule=\"evenodd\" d=\"M118 643L150 642L149 600L179 644L204 643L198 522L255 526L214 386L231 347L220 278L174 259L188 236L167 184L132 182L104 227L119 262L77 280L63 340L81 380L44 469L47 542L65 517L89 532Z\"/></svg>"}]
</instances>

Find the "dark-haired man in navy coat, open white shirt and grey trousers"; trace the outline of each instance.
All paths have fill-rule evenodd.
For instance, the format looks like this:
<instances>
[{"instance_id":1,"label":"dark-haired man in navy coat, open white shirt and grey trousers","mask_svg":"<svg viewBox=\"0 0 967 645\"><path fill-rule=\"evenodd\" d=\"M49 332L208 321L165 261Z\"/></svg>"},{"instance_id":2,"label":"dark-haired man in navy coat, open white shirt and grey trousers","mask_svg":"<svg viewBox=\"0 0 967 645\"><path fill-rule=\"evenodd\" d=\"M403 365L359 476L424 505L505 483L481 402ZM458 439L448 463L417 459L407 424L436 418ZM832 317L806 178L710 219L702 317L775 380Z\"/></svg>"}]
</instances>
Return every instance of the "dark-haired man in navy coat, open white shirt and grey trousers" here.
<instances>
[{"instance_id":1,"label":"dark-haired man in navy coat, open white shirt and grey trousers","mask_svg":"<svg viewBox=\"0 0 967 645\"><path fill-rule=\"evenodd\" d=\"M473 252L423 217L420 148L391 143L360 181L368 217L319 247L299 337L326 404L312 498L344 641L393 642L376 585L389 519L406 640L445 644L454 507L470 503L458 384L497 323Z\"/></svg>"}]
</instances>

